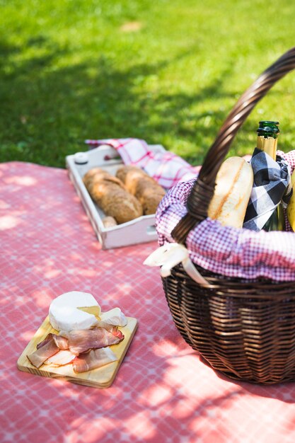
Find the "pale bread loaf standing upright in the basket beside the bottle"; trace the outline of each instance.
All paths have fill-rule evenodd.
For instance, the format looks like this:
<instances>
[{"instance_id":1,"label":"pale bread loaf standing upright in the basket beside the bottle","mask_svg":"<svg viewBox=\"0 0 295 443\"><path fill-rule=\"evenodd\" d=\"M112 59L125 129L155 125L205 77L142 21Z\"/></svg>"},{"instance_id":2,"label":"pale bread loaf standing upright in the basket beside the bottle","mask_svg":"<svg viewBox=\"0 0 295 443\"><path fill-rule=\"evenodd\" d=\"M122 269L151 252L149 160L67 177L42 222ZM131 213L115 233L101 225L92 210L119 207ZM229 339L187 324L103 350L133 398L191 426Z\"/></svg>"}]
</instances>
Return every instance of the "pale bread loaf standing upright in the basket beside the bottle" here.
<instances>
[{"instance_id":1,"label":"pale bread loaf standing upright in the basket beside the bottle","mask_svg":"<svg viewBox=\"0 0 295 443\"><path fill-rule=\"evenodd\" d=\"M241 157L229 157L217 173L208 216L223 226L241 228L252 188L252 166Z\"/></svg>"}]
</instances>

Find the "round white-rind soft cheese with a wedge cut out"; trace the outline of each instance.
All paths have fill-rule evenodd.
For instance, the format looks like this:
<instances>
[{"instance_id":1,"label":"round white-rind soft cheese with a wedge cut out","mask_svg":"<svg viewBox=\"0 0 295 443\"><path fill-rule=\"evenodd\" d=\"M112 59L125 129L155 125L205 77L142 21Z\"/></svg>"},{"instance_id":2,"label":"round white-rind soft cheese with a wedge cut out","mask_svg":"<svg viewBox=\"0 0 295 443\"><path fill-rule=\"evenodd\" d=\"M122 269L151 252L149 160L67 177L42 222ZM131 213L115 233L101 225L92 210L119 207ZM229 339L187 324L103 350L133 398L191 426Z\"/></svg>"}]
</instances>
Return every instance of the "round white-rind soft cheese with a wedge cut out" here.
<instances>
[{"instance_id":1,"label":"round white-rind soft cheese with a wedge cut out","mask_svg":"<svg viewBox=\"0 0 295 443\"><path fill-rule=\"evenodd\" d=\"M89 329L100 316L100 306L88 292L71 291L59 295L50 304L49 319L56 330Z\"/></svg>"}]
</instances>

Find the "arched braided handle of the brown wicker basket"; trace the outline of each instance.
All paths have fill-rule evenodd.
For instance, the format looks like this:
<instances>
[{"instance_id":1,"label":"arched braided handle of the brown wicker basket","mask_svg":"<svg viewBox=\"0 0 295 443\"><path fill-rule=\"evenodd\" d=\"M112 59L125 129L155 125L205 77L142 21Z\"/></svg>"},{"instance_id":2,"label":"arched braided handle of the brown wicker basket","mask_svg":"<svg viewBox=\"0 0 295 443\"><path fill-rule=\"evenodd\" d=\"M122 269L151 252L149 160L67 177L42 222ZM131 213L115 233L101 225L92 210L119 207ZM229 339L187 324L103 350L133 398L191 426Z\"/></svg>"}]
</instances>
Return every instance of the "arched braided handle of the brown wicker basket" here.
<instances>
[{"instance_id":1,"label":"arched braided handle of the brown wicker basket","mask_svg":"<svg viewBox=\"0 0 295 443\"><path fill-rule=\"evenodd\" d=\"M204 159L199 176L187 198L187 214L178 222L171 235L185 243L196 224L207 218L209 202L214 194L216 175L241 125L265 93L289 71L295 68L295 47L285 52L250 86L226 118Z\"/></svg>"}]
</instances>

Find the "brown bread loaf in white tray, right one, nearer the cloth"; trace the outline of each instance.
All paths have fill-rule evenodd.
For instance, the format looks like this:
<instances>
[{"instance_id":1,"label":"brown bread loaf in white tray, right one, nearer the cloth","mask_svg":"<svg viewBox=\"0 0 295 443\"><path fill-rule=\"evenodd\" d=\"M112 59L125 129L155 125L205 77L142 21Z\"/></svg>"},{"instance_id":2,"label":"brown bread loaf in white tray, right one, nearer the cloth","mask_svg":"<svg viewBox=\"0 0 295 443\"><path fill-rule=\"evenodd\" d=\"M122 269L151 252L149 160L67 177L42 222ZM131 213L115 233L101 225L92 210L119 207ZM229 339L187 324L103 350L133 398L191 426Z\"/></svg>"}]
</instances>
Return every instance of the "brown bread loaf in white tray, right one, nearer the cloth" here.
<instances>
[{"instance_id":1,"label":"brown bread loaf in white tray, right one, nearer the cloth","mask_svg":"<svg viewBox=\"0 0 295 443\"><path fill-rule=\"evenodd\" d=\"M136 166L121 166L116 173L126 189L141 202L144 214L155 214L158 204L165 195L161 185Z\"/></svg>"}]
</instances>

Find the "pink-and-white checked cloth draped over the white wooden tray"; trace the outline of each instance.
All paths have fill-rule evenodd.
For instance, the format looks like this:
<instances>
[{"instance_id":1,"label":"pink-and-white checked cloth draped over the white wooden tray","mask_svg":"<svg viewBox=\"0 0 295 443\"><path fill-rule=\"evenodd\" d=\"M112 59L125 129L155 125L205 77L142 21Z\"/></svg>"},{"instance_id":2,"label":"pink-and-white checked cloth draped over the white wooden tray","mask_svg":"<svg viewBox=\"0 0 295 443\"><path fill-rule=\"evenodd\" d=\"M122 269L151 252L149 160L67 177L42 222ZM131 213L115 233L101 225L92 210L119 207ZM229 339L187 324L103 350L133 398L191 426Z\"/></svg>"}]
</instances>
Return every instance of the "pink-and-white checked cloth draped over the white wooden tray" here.
<instances>
[{"instance_id":1,"label":"pink-and-white checked cloth draped over the white wooden tray","mask_svg":"<svg viewBox=\"0 0 295 443\"><path fill-rule=\"evenodd\" d=\"M151 151L149 145L140 139L86 140L88 146L108 144L117 149L126 165L144 169L163 188L170 189L180 180L195 178L199 168L195 168L170 151Z\"/></svg>"}]
</instances>

